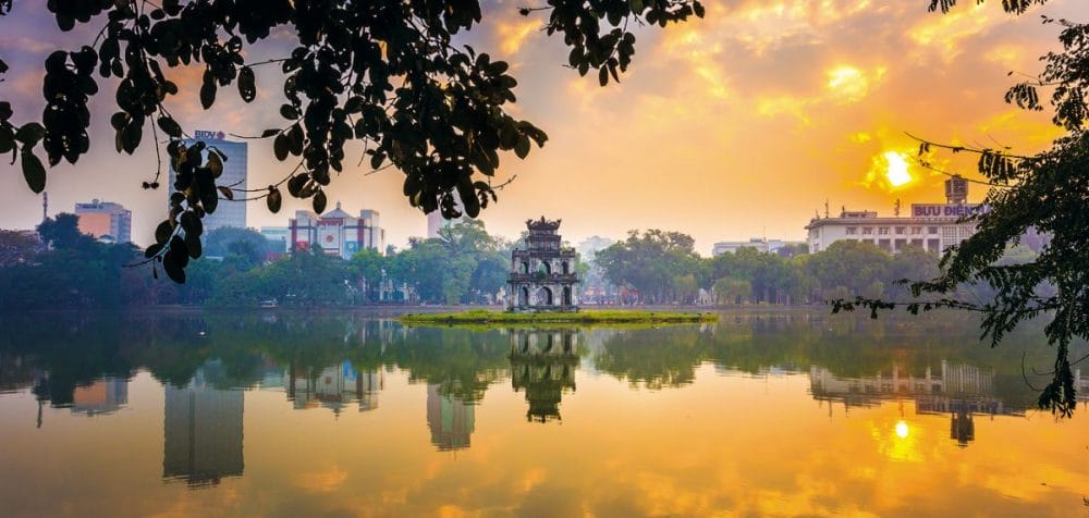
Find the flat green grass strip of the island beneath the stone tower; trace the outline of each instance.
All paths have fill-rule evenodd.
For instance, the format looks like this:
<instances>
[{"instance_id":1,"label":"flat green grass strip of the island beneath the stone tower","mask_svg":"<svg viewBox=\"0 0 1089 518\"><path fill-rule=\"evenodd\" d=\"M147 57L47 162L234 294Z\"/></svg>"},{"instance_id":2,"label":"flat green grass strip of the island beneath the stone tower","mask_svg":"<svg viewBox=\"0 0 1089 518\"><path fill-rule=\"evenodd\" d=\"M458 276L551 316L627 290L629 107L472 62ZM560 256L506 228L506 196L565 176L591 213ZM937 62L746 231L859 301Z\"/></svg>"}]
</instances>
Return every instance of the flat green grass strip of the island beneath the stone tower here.
<instances>
[{"instance_id":1,"label":"flat green grass strip of the island beneath the stone tower","mask_svg":"<svg viewBox=\"0 0 1089 518\"><path fill-rule=\"evenodd\" d=\"M656 324L714 322L713 313L639 310L583 310L567 313L514 313L470 309L441 313L408 313L397 318L404 324Z\"/></svg>"}]
</instances>

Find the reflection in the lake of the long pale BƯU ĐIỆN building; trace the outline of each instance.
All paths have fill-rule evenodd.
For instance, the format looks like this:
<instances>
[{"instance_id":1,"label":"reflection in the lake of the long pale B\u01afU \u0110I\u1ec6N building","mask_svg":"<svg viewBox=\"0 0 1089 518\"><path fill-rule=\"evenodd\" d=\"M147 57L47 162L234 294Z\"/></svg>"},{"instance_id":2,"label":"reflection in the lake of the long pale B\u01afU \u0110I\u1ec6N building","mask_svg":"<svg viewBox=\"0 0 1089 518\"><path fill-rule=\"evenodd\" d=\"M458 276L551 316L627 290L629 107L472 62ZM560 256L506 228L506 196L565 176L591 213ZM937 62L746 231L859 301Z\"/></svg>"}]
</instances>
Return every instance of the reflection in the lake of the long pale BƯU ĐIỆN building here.
<instances>
[{"instance_id":1,"label":"reflection in the lake of the long pale B\u01afU \u0110I\u1ec6N building","mask_svg":"<svg viewBox=\"0 0 1089 518\"><path fill-rule=\"evenodd\" d=\"M821 402L844 408L868 407L884 400L911 398L921 415L950 416L950 439L964 447L976 439L974 416L1024 416L1024 406L1011 406L994 395L994 371L942 360L941 370L920 373L893 365L891 371L865 378L839 378L820 366L809 368L810 393ZM832 405L829 405L829 416Z\"/></svg>"}]
</instances>

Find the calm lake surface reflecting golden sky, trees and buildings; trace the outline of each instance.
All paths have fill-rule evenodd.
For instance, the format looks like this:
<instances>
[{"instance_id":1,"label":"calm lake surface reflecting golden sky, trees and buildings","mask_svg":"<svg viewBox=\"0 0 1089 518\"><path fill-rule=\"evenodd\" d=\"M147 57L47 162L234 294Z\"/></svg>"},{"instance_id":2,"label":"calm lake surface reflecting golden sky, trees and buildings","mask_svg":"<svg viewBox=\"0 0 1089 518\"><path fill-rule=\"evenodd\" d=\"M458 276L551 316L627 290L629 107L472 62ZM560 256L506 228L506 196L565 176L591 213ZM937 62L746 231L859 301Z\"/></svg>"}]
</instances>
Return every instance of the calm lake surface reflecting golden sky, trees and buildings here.
<instances>
[{"instance_id":1,"label":"calm lake surface reflecting golden sky, trees and buildings","mask_svg":"<svg viewBox=\"0 0 1089 518\"><path fill-rule=\"evenodd\" d=\"M1035 410L1023 378L1051 365L1039 326L990 349L958 316L722 317L0 317L0 515L1089 509L1087 410Z\"/></svg>"}]
</instances>

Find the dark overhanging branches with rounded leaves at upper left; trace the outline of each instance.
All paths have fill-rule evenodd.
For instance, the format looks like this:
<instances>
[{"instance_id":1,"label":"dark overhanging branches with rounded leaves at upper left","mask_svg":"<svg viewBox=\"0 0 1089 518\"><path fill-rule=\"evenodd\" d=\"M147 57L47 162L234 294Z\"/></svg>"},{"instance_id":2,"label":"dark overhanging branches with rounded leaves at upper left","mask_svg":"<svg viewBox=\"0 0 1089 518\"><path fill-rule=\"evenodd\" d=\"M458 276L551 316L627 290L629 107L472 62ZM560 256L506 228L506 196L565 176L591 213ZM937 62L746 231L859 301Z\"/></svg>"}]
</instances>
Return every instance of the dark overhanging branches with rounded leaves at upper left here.
<instances>
[{"instance_id":1,"label":"dark overhanging branches with rounded leaves at upper left","mask_svg":"<svg viewBox=\"0 0 1089 518\"><path fill-rule=\"evenodd\" d=\"M40 119L16 114L10 102L0 101L0 153L19 157L27 185L40 193L47 174L38 146L50 166L61 160L76 163L91 145L88 102L99 94L100 79L115 78L110 84L117 85L118 111L110 123L118 152L132 155L142 143L158 146L160 138L169 138L166 151L176 171L176 193L146 256L176 282L184 282L188 259L201 255L200 220L221 199L264 198L276 212L285 188L323 212L323 188L331 173L344 169L351 141L362 145L372 169L394 166L404 173L403 193L414 207L440 210L446 218L461 215L462 207L475 218L495 200L491 178L500 152L525 158L533 145L543 146L548 138L531 122L511 115L517 81L507 63L456 41L482 20L477 0L86 0L46 5L61 30L76 25L101 30L82 48L59 49L46 59ZM0 0L0 15L12 15L12 9L11 0ZM664 27L703 15L698 0L549 0L519 11L541 15L542 29L561 35L571 48L567 64L582 75L597 71L602 86L610 78L619 81L632 61L636 36L629 24L633 29ZM289 30L277 33L280 27ZM273 35L290 39L290 51L247 62L252 48ZM276 158L296 165L267 188L221 185L217 178L227 156L193 139L171 114L174 102L184 102L171 72L203 69L199 102L213 110L230 86L245 102L254 101L257 74L269 65L278 66L283 77L287 102L279 111L284 125L257 131L255 137L271 138ZM0 74L7 71L0 61ZM160 163L144 187L158 188L161 172Z\"/></svg>"}]
</instances>

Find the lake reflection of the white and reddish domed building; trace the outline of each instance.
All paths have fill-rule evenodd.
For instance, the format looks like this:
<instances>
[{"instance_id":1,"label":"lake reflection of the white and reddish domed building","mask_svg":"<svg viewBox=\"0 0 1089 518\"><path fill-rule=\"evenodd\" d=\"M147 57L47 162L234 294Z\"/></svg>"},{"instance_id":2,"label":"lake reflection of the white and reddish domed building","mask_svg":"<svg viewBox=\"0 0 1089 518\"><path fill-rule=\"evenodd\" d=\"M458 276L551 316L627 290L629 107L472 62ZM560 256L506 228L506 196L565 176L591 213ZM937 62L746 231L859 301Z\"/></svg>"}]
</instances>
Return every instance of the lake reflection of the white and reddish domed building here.
<instances>
[{"instance_id":1,"label":"lake reflection of the white and reddish domed building","mask_svg":"<svg viewBox=\"0 0 1089 518\"><path fill-rule=\"evenodd\" d=\"M325 407L337 415L353 402L358 403L359 411L378 408L378 393L386 384L381 370L358 372L347 360L321 370L289 367L282 377L295 409ZM273 385L261 383L262 387Z\"/></svg>"}]
</instances>

